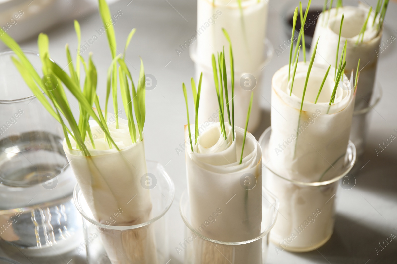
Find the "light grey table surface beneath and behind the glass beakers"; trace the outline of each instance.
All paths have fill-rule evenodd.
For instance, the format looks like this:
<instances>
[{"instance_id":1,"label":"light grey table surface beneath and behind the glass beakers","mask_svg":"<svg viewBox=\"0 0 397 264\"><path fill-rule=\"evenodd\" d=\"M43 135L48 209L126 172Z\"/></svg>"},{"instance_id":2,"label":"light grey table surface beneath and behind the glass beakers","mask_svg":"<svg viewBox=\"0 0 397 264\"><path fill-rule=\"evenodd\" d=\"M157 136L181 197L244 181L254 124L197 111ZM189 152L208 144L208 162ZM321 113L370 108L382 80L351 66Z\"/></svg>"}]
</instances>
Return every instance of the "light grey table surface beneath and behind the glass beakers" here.
<instances>
[{"instance_id":1,"label":"light grey table surface beneath and behind the glass beakers","mask_svg":"<svg viewBox=\"0 0 397 264\"><path fill-rule=\"evenodd\" d=\"M185 102L181 83L189 83L194 76L194 64L189 54L184 52L177 56L175 49L188 40L196 27L195 0L122 0L110 6L111 13L121 10L123 14L115 25L118 39L118 51L122 52L125 38L136 27L137 32L127 52L128 66L135 80L138 78L139 55L143 58L146 74L157 79L157 86L146 92L145 145L146 158L166 165L165 169L175 183L175 200L168 212L170 234L170 262L182 263L183 254L177 255L175 247L183 241L184 224L179 215L179 198L186 188L185 158L177 155L175 148L183 143L183 125L187 123ZM372 6L375 1L368 0ZM268 17L268 38L277 47L287 40L282 31L282 17L279 15L285 1L271 0ZM298 1L297 1L298 3ZM391 35L397 37L397 4L391 2L387 11L384 40ZM45 19L45 17L43 17ZM98 13L81 16L82 40L89 40L95 30L102 27ZM73 23L65 23L47 30L50 38L50 55L61 66L66 66L64 46L68 42L71 50L76 49L76 37ZM376 155L375 148L391 133L397 130L397 41L394 41L380 54L377 80L383 87L380 104L370 113L368 144L362 158L366 163L355 174L357 183L351 190L339 188L337 194L337 217L335 231L330 241L316 251L308 253L288 253L278 255L275 245L270 243L268 264L275 263L397 263L397 238L379 252L376 248L393 232L397 234L397 141ZM37 39L21 44L24 49L37 51ZM105 34L98 37L89 49L83 53L88 56L93 52L94 63L98 71L98 94L104 103L106 86L106 69L110 65L110 51ZM270 83L278 68L288 61L288 52L279 57L274 56L264 68L260 104L262 106L262 123L254 135L270 125ZM134 68L133 68L134 67ZM394 84L393 84L394 83ZM121 97L119 97L121 99ZM74 101L75 106L77 103ZM119 102L121 105L121 100ZM77 264L84 263L82 256L70 253L52 259L18 258L23 264ZM164 263L165 264L165 263Z\"/></svg>"}]
</instances>

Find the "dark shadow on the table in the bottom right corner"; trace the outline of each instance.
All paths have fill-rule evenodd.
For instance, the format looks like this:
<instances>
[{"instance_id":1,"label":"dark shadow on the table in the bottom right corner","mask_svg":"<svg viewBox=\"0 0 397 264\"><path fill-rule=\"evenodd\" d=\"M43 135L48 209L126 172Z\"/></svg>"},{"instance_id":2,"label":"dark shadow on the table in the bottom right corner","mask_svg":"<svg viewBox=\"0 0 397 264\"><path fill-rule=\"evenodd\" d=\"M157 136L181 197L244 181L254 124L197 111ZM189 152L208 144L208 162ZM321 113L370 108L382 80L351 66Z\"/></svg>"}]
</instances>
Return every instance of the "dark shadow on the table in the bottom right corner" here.
<instances>
[{"instance_id":1,"label":"dark shadow on the table in the bottom right corner","mask_svg":"<svg viewBox=\"0 0 397 264\"><path fill-rule=\"evenodd\" d=\"M397 235L397 231L394 234ZM371 226L357 223L344 215L337 215L330 240L318 251L299 253L299 256L324 264L393 264L397 263L397 237L391 239L390 235L381 234ZM390 239L391 242L387 243Z\"/></svg>"}]
</instances>

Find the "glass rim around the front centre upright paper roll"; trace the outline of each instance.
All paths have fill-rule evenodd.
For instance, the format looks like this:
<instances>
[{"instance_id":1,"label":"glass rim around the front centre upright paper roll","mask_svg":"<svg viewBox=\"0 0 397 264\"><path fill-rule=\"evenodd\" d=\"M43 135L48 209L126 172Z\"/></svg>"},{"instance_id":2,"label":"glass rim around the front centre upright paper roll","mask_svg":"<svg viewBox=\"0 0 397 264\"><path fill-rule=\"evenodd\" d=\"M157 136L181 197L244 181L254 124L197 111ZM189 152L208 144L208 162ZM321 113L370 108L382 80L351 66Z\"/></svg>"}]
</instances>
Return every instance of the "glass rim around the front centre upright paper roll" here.
<instances>
[{"instance_id":1,"label":"glass rim around the front centre upright paper roll","mask_svg":"<svg viewBox=\"0 0 397 264\"><path fill-rule=\"evenodd\" d=\"M210 242L212 242L212 243L216 243L216 244L220 244L220 245L229 245L229 246L231 246L231 245L245 245L245 244L249 244L249 243L252 243L252 242L254 242L254 241L257 241L258 239L261 239L262 237L264 237L264 236L266 236L267 234L269 234L270 233L270 230L272 230L272 228L274 227L274 225L276 224L276 220L277 220L277 216L278 216L278 208L279 208L279 205L280 205L280 201L279 201L279 199L274 195L274 194L272 194L272 192L270 192L268 189L266 189L264 186L262 186L262 193L263 192L265 192L266 194L268 194L270 197L272 197L273 199L274 199L274 203L275 203L275 205L273 205L273 204L271 204L272 205L272 207L274 207L274 209L275 209L275 211L274 211L274 215L272 216L272 223L270 224L270 226L268 226L268 228L266 228L266 230L264 230L263 232L261 232L260 234L259 234L259 236L257 236L257 237L254 237L254 238L252 238L252 239L249 239L249 240L247 240L247 241L239 241L239 242L225 242L225 241L220 241L220 240L216 240L216 239L212 239L212 238L209 238L209 237L206 237L206 236L203 236L202 234L200 234L199 232L197 232L196 230L195 230L195 228L193 228L193 226L191 226L191 224L189 223L189 220L187 219L187 217L185 216L185 215L183 215L183 208L182 208L182 202L183 202L183 199L180 199L180 201L179 201L179 213L180 213L180 215L181 215L181 217L182 217L182 220L183 220L183 222L185 223L185 226L187 227L187 228L189 228L189 230L191 231L191 232L193 232L196 236L198 236L198 237L201 237L202 239L205 239L206 241L210 241ZM182 193L182 195L181 195L181 198L183 197L183 196L186 196L186 195L188 195L188 192L187 192L187 188L183 191L183 193ZM263 196L263 194L262 194L262 197L264 197ZM266 198L265 198L266 199ZM189 199L187 199L187 201L189 201ZM263 205L262 205L262 207L263 207Z\"/></svg>"}]
</instances>

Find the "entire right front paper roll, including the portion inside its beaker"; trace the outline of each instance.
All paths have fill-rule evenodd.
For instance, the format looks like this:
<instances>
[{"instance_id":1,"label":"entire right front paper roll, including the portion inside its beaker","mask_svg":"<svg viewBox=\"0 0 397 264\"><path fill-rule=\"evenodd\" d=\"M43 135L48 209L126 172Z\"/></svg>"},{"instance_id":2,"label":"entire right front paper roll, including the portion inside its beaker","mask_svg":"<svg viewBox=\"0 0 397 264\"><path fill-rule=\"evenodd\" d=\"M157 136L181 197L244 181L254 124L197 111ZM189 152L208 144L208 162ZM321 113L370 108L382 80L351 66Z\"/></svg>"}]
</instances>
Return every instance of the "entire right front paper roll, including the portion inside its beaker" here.
<instances>
[{"instance_id":1,"label":"entire right front paper roll, including the portion inside its beaker","mask_svg":"<svg viewBox=\"0 0 397 264\"><path fill-rule=\"evenodd\" d=\"M349 142L355 90L347 77L340 81L335 101L329 104L335 80L333 74L328 74L315 103L327 68L312 67L302 111L308 64L298 63L291 95L288 65L280 68L272 79L272 106L277 111L271 112L272 133L266 164L270 170L265 186L280 199L280 217L270 236L280 251L314 250L328 241L333 232L332 198L337 181L324 186L304 185L341 175Z\"/></svg>"}]
</instances>

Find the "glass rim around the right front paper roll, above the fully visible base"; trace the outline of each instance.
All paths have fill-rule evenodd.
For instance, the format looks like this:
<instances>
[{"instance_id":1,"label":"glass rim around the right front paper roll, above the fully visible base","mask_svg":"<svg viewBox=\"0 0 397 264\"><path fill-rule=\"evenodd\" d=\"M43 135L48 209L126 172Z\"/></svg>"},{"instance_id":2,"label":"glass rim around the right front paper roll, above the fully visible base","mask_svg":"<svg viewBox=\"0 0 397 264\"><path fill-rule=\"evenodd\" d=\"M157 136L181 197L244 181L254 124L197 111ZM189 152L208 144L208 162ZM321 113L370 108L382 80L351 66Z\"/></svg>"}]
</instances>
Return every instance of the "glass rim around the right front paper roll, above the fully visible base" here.
<instances>
[{"instance_id":1,"label":"glass rim around the right front paper roll, above the fully visible base","mask_svg":"<svg viewBox=\"0 0 397 264\"><path fill-rule=\"evenodd\" d=\"M264 141L265 136L266 136L269 132L271 132L271 131L272 131L272 127L270 126L270 127L266 128L265 131L263 131L262 135L260 135L258 142L259 142L259 145L260 145L261 147L262 147L261 142ZM302 186L324 186L324 185L328 185L328 184L337 182L338 180L340 180L341 178L343 178L344 176L346 176L346 175L351 171L351 169L353 168L354 164L356 163L357 153L356 153L356 146L354 145L353 142L351 142L350 139L349 139L349 144L347 144L346 150L348 150L348 149L351 149L351 150L352 150L353 158L351 159L350 164L349 164L349 166L345 169L345 171L343 171L343 173L342 173L341 175L338 175L338 176L336 176L336 177L334 177L334 178L332 178L332 179L330 179L330 180L324 180L324 181L321 181L321 182L301 182L301 181L299 181L299 180L287 179L287 178L285 178L285 177L283 177L283 176L281 176L281 175L278 175L278 174L275 173L274 171L272 171L272 169L270 169L268 166L266 166L267 163L263 164L263 163L264 163L263 157L262 157L262 164L264 165L264 167L266 167L266 169L268 169L269 171L271 171L271 172L272 172L274 175L276 175L277 177L279 177L279 178L281 178L281 179L283 179L283 180L289 181L289 182L291 182L291 183L293 183L293 184L302 185ZM263 149L262 149L262 156L263 156L263 153L264 153L265 151L267 151L267 150L263 150Z\"/></svg>"}]
</instances>

